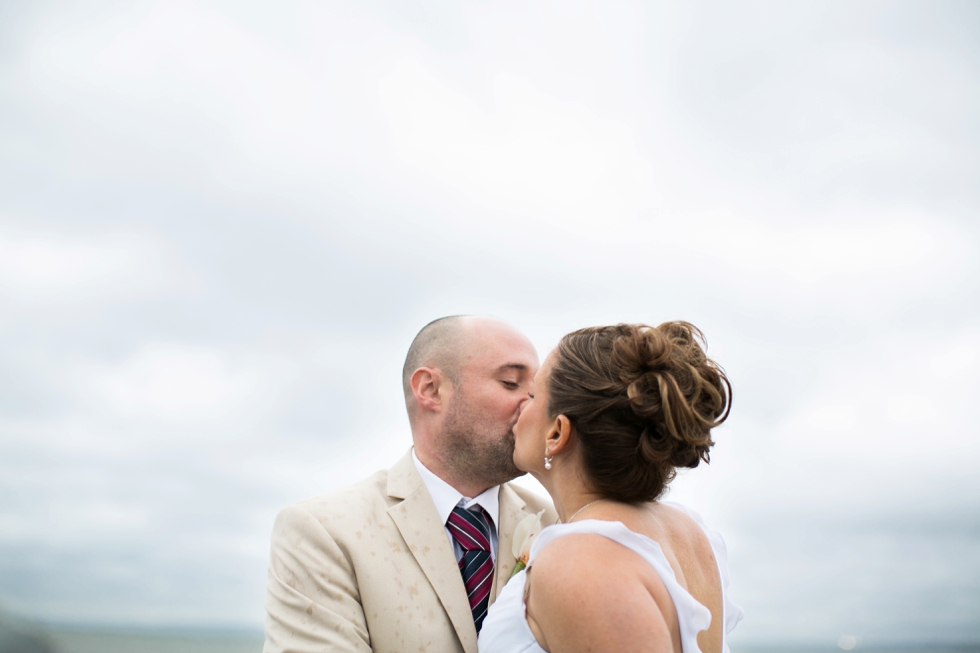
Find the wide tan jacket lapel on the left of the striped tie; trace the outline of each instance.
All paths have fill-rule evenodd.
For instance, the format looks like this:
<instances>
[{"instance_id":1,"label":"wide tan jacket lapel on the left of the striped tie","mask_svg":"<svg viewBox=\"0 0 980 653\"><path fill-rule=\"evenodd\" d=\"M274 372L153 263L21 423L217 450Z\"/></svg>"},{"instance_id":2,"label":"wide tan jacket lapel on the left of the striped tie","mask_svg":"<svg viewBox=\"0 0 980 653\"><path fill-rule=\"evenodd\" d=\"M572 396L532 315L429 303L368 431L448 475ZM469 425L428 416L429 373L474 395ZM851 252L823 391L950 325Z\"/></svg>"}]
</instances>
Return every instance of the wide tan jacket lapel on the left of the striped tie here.
<instances>
[{"instance_id":1,"label":"wide tan jacket lapel on the left of the striped tie","mask_svg":"<svg viewBox=\"0 0 980 653\"><path fill-rule=\"evenodd\" d=\"M388 496L404 499L389 508L388 514L449 615L463 650L477 653L476 628L456 556L411 452L389 470Z\"/></svg>"}]
</instances>

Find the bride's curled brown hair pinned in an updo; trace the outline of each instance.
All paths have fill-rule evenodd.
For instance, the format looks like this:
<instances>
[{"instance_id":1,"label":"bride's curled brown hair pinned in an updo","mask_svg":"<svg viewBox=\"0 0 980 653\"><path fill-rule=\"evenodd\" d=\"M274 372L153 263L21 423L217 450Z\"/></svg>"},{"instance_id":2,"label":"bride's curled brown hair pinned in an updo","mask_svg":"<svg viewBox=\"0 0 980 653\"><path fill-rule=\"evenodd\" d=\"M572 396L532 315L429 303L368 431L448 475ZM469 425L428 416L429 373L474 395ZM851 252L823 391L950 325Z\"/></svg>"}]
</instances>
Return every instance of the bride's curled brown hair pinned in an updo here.
<instances>
[{"instance_id":1,"label":"bride's curled brown hair pinned in an updo","mask_svg":"<svg viewBox=\"0 0 980 653\"><path fill-rule=\"evenodd\" d=\"M731 384L702 343L687 322L592 327L558 343L548 412L571 421L602 497L652 501L677 467L709 461L711 429L728 417Z\"/></svg>"}]
</instances>

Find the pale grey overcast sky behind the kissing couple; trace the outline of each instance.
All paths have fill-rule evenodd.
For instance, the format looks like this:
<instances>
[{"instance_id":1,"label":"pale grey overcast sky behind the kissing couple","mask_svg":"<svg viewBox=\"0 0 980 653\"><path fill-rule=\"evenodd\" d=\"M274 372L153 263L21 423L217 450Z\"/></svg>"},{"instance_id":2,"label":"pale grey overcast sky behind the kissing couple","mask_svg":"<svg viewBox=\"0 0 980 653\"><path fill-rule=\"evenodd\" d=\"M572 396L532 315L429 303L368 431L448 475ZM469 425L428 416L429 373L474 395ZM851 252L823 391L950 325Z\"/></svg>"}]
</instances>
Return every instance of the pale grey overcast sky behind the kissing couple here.
<instances>
[{"instance_id":1,"label":"pale grey overcast sky behind the kissing couple","mask_svg":"<svg viewBox=\"0 0 980 653\"><path fill-rule=\"evenodd\" d=\"M411 5L411 6L406 6ZM686 319L735 642L980 639L980 5L0 3L0 607L260 627L418 329Z\"/></svg>"}]
</instances>

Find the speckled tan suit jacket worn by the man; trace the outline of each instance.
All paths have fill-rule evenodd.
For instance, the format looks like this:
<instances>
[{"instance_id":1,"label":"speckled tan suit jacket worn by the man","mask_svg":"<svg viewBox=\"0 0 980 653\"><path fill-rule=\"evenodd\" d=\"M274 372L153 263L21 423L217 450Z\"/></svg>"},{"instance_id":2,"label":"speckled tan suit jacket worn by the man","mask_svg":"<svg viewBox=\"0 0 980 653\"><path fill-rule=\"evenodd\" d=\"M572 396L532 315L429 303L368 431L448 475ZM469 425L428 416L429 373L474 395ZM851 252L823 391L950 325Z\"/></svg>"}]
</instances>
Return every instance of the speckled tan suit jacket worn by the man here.
<instances>
[{"instance_id":1,"label":"speckled tan suit jacket worn by the man","mask_svg":"<svg viewBox=\"0 0 980 653\"><path fill-rule=\"evenodd\" d=\"M550 501L500 486L491 600L510 578L514 527ZM272 531L264 653L477 653L444 524L409 452L388 471L287 506Z\"/></svg>"}]
</instances>

